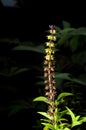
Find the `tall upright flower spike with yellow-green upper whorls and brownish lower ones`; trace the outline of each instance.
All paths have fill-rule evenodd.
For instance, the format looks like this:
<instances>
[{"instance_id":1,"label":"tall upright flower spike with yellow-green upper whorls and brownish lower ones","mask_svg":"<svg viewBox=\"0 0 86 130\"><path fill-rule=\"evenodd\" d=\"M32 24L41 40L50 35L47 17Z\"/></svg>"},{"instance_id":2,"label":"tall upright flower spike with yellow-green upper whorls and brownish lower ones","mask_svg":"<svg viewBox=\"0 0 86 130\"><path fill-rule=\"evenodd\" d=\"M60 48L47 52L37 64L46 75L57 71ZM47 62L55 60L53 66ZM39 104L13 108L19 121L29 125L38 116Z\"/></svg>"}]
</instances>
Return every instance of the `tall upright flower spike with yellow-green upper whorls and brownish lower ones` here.
<instances>
[{"instance_id":1,"label":"tall upright flower spike with yellow-green upper whorls and brownish lower ones","mask_svg":"<svg viewBox=\"0 0 86 130\"><path fill-rule=\"evenodd\" d=\"M49 40L46 42L46 56L44 61L44 77L45 79L45 96L50 102L50 105L48 106L47 113L52 117L52 120L50 121L53 125L56 124L54 117L55 117L55 104L53 103L55 101L56 96L56 87L55 87L55 66L54 66L54 53L55 53L55 44L54 41L56 41L56 30L53 25L50 27L50 34L47 36L47 39Z\"/></svg>"}]
</instances>

